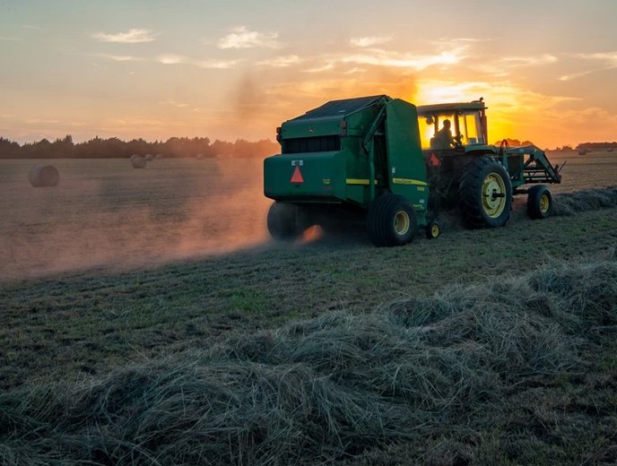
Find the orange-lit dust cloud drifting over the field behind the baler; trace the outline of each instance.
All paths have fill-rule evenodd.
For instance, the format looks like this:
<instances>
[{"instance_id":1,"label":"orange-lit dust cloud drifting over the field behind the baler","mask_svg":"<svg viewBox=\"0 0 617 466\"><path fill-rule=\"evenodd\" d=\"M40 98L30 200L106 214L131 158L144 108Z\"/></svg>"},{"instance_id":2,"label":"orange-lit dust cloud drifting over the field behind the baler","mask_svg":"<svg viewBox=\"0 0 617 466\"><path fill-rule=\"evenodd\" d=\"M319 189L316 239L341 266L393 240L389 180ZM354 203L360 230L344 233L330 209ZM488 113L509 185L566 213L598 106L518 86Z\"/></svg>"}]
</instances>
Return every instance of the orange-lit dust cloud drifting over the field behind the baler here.
<instances>
[{"instance_id":1,"label":"orange-lit dust cloud drifting over the field behind the baler","mask_svg":"<svg viewBox=\"0 0 617 466\"><path fill-rule=\"evenodd\" d=\"M145 170L62 160L54 188L32 188L29 162L14 163L0 183L0 281L130 270L269 240L262 160L156 160Z\"/></svg>"}]
</instances>

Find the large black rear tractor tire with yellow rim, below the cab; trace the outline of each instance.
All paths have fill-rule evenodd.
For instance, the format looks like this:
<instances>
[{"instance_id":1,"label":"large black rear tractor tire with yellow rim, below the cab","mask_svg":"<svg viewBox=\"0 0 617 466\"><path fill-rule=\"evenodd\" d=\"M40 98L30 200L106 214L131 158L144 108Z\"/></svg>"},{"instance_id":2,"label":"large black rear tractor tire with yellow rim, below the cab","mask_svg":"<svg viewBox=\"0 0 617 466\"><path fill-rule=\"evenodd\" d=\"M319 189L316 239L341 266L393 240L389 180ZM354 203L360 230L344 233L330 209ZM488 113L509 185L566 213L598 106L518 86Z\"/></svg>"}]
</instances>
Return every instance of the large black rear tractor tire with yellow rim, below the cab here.
<instances>
[{"instance_id":1,"label":"large black rear tractor tire with yellow rim, below the cab","mask_svg":"<svg viewBox=\"0 0 617 466\"><path fill-rule=\"evenodd\" d=\"M506 168L486 156L468 163L458 185L458 207L467 228L503 227L512 208L512 182Z\"/></svg>"}]
</instances>

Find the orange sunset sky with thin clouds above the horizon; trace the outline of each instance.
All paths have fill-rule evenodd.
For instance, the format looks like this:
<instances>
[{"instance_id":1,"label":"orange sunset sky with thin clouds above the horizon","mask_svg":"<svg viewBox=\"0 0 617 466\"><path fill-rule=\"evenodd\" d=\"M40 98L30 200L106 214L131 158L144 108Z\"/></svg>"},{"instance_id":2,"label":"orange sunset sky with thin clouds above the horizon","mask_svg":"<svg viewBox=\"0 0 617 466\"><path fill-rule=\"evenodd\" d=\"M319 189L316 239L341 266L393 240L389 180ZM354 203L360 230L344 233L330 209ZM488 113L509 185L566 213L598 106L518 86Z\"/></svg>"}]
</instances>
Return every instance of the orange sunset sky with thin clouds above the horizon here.
<instances>
[{"instance_id":1,"label":"orange sunset sky with thin clouds above the horizon","mask_svg":"<svg viewBox=\"0 0 617 466\"><path fill-rule=\"evenodd\" d=\"M617 140L614 0L0 0L0 136L271 138L329 99L483 97L489 138Z\"/></svg>"}]
</instances>

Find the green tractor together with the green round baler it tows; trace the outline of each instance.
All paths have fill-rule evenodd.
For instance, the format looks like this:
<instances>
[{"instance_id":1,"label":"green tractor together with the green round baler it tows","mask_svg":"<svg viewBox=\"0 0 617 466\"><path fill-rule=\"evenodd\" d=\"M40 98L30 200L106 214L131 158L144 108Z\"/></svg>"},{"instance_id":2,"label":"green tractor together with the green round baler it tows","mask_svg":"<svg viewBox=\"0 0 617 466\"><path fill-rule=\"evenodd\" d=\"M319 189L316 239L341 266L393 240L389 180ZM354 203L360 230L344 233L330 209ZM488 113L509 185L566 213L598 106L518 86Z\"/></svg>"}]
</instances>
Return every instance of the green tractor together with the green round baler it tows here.
<instances>
[{"instance_id":1,"label":"green tractor together with the green round baler it tows","mask_svg":"<svg viewBox=\"0 0 617 466\"><path fill-rule=\"evenodd\" d=\"M264 161L267 225L293 239L350 212L366 217L376 246L439 237L439 212L458 209L468 228L506 224L512 196L527 194L532 218L550 215L560 183L535 146L488 144L486 107L415 107L386 95L332 100L277 128L281 153ZM526 188L527 185L533 185Z\"/></svg>"}]
</instances>

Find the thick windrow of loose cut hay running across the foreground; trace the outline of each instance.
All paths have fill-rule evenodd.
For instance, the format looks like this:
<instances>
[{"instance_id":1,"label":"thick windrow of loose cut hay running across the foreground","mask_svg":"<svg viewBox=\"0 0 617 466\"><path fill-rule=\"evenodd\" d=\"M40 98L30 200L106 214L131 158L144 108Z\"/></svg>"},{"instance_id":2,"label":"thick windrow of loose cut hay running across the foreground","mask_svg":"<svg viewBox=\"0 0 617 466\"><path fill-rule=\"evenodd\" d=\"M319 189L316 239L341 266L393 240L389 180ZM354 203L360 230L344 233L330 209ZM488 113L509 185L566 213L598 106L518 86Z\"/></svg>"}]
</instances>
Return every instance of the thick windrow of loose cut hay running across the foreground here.
<instances>
[{"instance_id":1,"label":"thick windrow of loose cut hay running across the foreground","mask_svg":"<svg viewBox=\"0 0 617 466\"><path fill-rule=\"evenodd\" d=\"M0 457L316 464L491 431L514 387L584 372L581 351L613 338L616 303L617 261L552 264L3 393Z\"/></svg>"}]
</instances>

